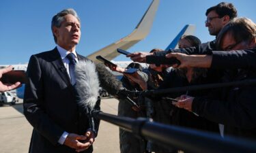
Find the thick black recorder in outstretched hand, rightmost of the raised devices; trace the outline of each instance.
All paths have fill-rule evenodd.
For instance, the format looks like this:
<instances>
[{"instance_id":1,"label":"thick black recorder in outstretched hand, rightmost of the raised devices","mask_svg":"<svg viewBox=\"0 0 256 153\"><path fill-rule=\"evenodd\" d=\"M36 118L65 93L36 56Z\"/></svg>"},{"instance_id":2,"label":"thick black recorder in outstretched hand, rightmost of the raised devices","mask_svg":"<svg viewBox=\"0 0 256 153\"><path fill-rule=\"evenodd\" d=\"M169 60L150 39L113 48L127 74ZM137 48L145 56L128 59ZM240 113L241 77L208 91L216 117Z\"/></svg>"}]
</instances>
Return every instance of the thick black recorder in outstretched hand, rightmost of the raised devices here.
<instances>
[{"instance_id":1,"label":"thick black recorder in outstretched hand, rightmost of the raised devices","mask_svg":"<svg viewBox=\"0 0 256 153\"><path fill-rule=\"evenodd\" d=\"M146 56L146 63L148 64L155 64L156 66L160 65L180 65L180 61L177 58L171 57L167 58L165 56L156 56L156 55L147 55Z\"/></svg>"}]
</instances>

